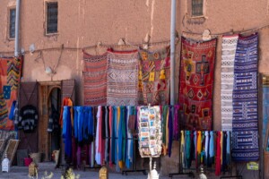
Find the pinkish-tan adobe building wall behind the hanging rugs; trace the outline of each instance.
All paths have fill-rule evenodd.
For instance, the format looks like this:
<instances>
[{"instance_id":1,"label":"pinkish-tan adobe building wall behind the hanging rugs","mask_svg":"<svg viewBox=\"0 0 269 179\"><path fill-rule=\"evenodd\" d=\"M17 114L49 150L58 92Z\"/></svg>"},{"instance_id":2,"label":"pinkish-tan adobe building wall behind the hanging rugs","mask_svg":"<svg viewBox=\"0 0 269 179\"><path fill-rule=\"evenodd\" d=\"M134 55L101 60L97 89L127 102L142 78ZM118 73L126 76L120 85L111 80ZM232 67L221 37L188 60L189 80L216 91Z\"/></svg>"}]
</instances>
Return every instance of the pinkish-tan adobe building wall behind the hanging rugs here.
<instances>
[{"instance_id":1,"label":"pinkish-tan adobe building wall behind the hanging rugs","mask_svg":"<svg viewBox=\"0 0 269 179\"><path fill-rule=\"evenodd\" d=\"M13 56L16 1L2 0L0 4L0 57ZM21 0L19 47L24 58L22 88L25 85L27 98L34 96L30 99L31 103L39 107L39 117L44 117L35 135L24 136L26 141L36 141L31 141L32 152L46 153L47 160L51 154L53 141L45 134L48 114L44 111L48 109L48 104L46 106L46 102L42 101L44 98L50 98L51 94L55 98L62 98L63 94L67 94L75 98L75 105L83 105L82 49L91 55L101 55L108 47L136 49L137 45L143 44L146 34L151 37L151 49L167 47L170 38L170 6L167 0ZM258 72L266 73L269 66L269 53L266 50L269 47L268 21L269 1L266 0L177 0L178 39L184 36L202 40L204 30L210 30L212 38L218 39L213 86L214 131L221 130L221 37L257 31ZM121 38L126 45L117 45ZM179 56L180 41L176 50L175 81L178 81ZM36 93L32 92L35 88L39 89ZM178 98L178 82L175 91ZM22 100L27 103L25 99ZM262 100L259 102L262 104ZM259 115L259 119L262 118ZM20 145L19 149L29 148L28 144ZM172 157L161 158L161 173L168 175L177 171L178 142L175 141ZM258 171L252 173L258 178Z\"/></svg>"}]
</instances>

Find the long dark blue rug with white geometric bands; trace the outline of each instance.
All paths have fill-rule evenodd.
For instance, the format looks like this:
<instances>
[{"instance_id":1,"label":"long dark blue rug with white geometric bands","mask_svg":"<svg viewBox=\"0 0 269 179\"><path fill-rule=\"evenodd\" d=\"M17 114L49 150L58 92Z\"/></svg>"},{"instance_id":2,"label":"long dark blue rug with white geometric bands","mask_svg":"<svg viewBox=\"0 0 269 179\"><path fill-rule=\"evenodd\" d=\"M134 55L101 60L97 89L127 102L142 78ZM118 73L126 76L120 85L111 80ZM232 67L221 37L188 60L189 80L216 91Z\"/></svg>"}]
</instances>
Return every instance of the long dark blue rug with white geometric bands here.
<instances>
[{"instance_id":1,"label":"long dark blue rug with white geometric bands","mask_svg":"<svg viewBox=\"0 0 269 179\"><path fill-rule=\"evenodd\" d=\"M234 63L232 158L259 158L257 121L257 33L240 37Z\"/></svg>"}]
</instances>

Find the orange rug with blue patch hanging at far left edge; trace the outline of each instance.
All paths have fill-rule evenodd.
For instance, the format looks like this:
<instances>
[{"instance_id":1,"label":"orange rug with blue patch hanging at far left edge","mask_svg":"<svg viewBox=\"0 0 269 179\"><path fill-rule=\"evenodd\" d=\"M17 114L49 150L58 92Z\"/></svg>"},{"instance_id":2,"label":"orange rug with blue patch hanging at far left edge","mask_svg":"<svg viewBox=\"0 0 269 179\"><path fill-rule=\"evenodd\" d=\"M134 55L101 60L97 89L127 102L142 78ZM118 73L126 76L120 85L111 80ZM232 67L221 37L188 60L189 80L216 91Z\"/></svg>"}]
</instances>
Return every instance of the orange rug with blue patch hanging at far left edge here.
<instances>
[{"instance_id":1,"label":"orange rug with blue patch hanging at far left edge","mask_svg":"<svg viewBox=\"0 0 269 179\"><path fill-rule=\"evenodd\" d=\"M0 130L14 130L13 121L8 119L8 113L13 100L17 99L21 69L22 57L0 58Z\"/></svg>"}]
</instances>

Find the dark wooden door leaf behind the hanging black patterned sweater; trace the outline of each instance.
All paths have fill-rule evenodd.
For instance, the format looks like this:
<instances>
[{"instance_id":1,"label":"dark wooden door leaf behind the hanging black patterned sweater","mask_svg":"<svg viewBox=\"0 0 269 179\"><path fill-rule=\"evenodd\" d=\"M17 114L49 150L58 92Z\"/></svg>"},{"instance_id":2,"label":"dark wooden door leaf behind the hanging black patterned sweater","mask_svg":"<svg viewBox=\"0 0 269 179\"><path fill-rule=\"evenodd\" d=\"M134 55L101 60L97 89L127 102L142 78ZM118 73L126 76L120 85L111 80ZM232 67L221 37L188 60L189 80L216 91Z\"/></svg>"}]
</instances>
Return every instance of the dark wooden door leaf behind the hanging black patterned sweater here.
<instances>
[{"instance_id":1,"label":"dark wooden door leaf behind the hanging black patterned sweater","mask_svg":"<svg viewBox=\"0 0 269 179\"><path fill-rule=\"evenodd\" d=\"M19 108L25 105L32 105L39 110L39 88L37 82L21 82L19 91ZM39 125L39 124L38 124ZM18 132L20 143L18 149L27 149L29 153L39 151L39 129L34 132L25 133L22 130Z\"/></svg>"}]
</instances>

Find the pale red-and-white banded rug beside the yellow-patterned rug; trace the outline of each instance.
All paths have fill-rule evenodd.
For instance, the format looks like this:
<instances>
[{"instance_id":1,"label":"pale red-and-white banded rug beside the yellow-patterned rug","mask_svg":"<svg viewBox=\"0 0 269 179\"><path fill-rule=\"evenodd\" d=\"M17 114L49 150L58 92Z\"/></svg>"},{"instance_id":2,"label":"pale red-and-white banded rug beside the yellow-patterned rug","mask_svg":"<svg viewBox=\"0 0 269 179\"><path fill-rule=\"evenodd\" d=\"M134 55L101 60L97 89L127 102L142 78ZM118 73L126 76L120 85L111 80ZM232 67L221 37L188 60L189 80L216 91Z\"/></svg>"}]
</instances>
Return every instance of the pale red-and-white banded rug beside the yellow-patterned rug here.
<instances>
[{"instance_id":1,"label":"pale red-and-white banded rug beside the yellow-patterned rug","mask_svg":"<svg viewBox=\"0 0 269 179\"><path fill-rule=\"evenodd\" d=\"M138 52L108 49L108 106L137 105Z\"/></svg>"}]
</instances>

